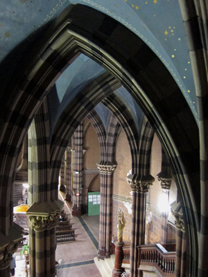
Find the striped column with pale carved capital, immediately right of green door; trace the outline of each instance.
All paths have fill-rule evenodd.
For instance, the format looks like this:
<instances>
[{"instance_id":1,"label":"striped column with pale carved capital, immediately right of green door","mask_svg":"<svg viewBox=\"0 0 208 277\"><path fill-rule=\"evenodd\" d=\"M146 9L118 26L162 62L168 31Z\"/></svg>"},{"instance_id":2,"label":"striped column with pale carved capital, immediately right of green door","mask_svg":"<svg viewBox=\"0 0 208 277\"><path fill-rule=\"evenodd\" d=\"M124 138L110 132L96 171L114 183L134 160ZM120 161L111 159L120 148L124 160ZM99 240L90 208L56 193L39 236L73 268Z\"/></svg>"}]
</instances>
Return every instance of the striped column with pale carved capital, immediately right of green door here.
<instances>
[{"instance_id":1,"label":"striped column with pale carved capital, immediately right of green door","mask_svg":"<svg viewBox=\"0 0 208 277\"><path fill-rule=\"evenodd\" d=\"M110 257L112 236L112 174L116 165L101 161L97 163L101 175L101 210L98 258Z\"/></svg>"}]
</instances>

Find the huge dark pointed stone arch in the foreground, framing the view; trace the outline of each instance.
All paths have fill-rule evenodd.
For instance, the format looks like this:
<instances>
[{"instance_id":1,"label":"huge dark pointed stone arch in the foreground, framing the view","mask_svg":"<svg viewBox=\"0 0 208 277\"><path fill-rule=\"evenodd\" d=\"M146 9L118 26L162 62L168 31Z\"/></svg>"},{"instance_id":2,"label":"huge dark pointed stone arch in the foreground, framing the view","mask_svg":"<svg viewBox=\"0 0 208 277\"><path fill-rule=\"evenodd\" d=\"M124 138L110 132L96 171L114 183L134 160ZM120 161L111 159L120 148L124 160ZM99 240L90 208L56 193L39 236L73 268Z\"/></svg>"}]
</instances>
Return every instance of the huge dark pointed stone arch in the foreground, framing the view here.
<instances>
[{"instance_id":1,"label":"huge dark pointed stone arch in the foreground, framing the view","mask_svg":"<svg viewBox=\"0 0 208 277\"><path fill-rule=\"evenodd\" d=\"M39 44L29 44L25 48L26 60L22 57L21 68L3 87L7 97L2 100L4 109L1 111L1 232L8 234L12 224L9 199L21 142L51 86L81 52L105 67L128 89L166 149L182 195L187 237L191 240L189 275L196 276L198 241L193 230L197 229L200 211L197 201L200 190L196 189L196 184L200 184L199 139L198 126L187 101L159 57L118 21L78 4L64 16L60 15L59 20L37 32ZM108 30L106 22L110 26ZM18 52L18 48L15 50ZM189 118L188 123L185 118ZM58 141L53 143L59 145ZM51 166L56 168L53 148L54 145Z\"/></svg>"}]
</instances>

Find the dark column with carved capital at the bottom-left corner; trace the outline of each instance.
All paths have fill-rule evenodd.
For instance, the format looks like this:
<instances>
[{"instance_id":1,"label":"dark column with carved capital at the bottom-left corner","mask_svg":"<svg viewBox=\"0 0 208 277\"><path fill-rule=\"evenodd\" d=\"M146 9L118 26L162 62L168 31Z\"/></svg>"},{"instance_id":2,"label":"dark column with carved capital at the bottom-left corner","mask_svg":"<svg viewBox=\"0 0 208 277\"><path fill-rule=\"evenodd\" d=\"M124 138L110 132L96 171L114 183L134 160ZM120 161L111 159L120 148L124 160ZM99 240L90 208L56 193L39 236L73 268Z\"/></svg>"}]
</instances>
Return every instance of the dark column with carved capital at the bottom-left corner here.
<instances>
[{"instance_id":1,"label":"dark column with carved capital at the bottom-left corner","mask_svg":"<svg viewBox=\"0 0 208 277\"><path fill-rule=\"evenodd\" d=\"M12 260L12 253L15 253L18 244L21 242L23 229L13 223L10 227L8 235L0 233L0 276L10 277L10 261Z\"/></svg>"}]
</instances>

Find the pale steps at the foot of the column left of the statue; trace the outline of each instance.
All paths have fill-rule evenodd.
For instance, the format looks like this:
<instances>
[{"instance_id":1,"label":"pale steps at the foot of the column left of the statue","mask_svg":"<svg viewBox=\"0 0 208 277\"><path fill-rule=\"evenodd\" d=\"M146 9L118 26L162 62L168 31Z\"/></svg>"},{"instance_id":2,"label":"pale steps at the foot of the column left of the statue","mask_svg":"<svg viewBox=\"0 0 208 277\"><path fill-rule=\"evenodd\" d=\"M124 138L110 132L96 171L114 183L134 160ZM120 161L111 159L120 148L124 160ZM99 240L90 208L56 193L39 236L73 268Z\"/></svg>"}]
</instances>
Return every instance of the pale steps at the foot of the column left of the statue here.
<instances>
[{"instance_id":1,"label":"pale steps at the foot of the column left of the statue","mask_svg":"<svg viewBox=\"0 0 208 277\"><path fill-rule=\"evenodd\" d=\"M98 260L96 257L94 258L94 262L103 277L112 277L112 270L114 269L115 262L114 255L111 255L110 258L105 258L104 260Z\"/></svg>"}]
</instances>

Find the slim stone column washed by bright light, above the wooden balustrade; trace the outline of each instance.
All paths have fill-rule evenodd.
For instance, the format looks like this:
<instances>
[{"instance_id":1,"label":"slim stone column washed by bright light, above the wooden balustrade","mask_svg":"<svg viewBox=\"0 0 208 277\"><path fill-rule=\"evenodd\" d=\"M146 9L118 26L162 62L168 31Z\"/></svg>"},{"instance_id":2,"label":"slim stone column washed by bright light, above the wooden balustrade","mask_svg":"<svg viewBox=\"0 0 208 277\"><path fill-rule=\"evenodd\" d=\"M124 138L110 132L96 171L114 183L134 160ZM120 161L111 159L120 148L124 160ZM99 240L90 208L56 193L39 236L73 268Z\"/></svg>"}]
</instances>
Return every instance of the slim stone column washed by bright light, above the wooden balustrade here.
<instances>
[{"instance_id":1,"label":"slim stone column washed by bright light, above the wooden balustrade","mask_svg":"<svg viewBox=\"0 0 208 277\"><path fill-rule=\"evenodd\" d=\"M157 179L162 187L162 224L161 224L161 242L166 244L167 243L167 236L168 236L168 207L169 207L169 192L171 188L171 181L170 178L159 177L157 175Z\"/></svg>"}]
</instances>

